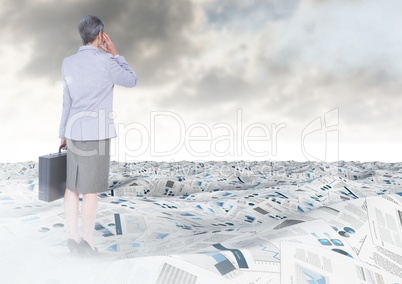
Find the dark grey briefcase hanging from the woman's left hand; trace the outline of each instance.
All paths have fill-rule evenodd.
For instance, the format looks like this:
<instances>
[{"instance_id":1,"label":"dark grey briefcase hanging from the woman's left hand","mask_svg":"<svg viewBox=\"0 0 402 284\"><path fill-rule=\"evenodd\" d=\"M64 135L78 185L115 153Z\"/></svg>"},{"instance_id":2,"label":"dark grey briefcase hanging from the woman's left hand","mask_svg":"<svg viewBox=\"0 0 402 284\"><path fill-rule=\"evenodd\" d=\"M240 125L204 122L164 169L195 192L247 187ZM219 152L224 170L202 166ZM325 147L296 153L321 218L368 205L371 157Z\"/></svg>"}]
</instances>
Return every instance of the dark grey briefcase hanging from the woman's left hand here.
<instances>
[{"instance_id":1,"label":"dark grey briefcase hanging from the woman's left hand","mask_svg":"<svg viewBox=\"0 0 402 284\"><path fill-rule=\"evenodd\" d=\"M51 202L64 197L67 177L67 152L39 157L39 200Z\"/></svg>"}]
</instances>

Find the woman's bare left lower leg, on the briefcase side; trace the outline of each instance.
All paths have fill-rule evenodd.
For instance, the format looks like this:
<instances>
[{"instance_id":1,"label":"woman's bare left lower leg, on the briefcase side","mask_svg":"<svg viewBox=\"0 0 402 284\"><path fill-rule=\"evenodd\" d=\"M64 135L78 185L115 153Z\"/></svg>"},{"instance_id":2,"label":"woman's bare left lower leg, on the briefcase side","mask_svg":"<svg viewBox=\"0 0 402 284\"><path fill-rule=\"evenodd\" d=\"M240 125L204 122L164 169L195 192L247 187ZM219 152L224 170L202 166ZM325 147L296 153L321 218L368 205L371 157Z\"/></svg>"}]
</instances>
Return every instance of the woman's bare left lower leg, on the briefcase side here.
<instances>
[{"instance_id":1,"label":"woman's bare left lower leg, on the briefcase side","mask_svg":"<svg viewBox=\"0 0 402 284\"><path fill-rule=\"evenodd\" d=\"M64 193L64 212L70 229L70 237L76 242L80 241L80 234L78 233L78 201L78 192L71 191L67 188Z\"/></svg>"}]
</instances>

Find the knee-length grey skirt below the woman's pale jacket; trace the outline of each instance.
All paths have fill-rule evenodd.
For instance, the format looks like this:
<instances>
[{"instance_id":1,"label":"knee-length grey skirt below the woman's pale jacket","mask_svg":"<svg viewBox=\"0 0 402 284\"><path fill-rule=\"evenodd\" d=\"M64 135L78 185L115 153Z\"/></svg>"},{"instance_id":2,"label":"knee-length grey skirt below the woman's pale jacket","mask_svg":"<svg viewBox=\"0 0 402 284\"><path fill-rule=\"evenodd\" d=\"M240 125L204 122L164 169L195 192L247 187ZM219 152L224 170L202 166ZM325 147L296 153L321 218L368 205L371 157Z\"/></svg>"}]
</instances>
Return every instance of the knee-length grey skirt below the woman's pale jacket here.
<instances>
[{"instance_id":1,"label":"knee-length grey skirt below the woman's pale jacket","mask_svg":"<svg viewBox=\"0 0 402 284\"><path fill-rule=\"evenodd\" d=\"M76 141L67 139L66 187L78 193L108 190L110 139Z\"/></svg>"}]
</instances>

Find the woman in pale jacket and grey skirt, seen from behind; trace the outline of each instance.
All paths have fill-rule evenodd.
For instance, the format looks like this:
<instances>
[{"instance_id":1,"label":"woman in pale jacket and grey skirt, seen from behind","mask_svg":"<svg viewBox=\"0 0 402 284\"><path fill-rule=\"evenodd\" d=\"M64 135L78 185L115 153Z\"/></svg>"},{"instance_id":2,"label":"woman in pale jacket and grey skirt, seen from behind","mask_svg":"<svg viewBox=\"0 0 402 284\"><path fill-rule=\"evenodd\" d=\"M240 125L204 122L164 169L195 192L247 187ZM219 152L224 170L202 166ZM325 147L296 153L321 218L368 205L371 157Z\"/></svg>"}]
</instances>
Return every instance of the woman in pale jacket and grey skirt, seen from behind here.
<instances>
[{"instance_id":1,"label":"woman in pale jacket and grey skirt, seen from behind","mask_svg":"<svg viewBox=\"0 0 402 284\"><path fill-rule=\"evenodd\" d=\"M59 138L67 145L64 209L71 253L95 255L98 193L108 189L110 139L116 137L113 86L134 87L137 76L117 53L98 17L84 17L78 30L83 46L65 58L61 68L64 90ZM80 194L82 239L78 231Z\"/></svg>"}]
</instances>

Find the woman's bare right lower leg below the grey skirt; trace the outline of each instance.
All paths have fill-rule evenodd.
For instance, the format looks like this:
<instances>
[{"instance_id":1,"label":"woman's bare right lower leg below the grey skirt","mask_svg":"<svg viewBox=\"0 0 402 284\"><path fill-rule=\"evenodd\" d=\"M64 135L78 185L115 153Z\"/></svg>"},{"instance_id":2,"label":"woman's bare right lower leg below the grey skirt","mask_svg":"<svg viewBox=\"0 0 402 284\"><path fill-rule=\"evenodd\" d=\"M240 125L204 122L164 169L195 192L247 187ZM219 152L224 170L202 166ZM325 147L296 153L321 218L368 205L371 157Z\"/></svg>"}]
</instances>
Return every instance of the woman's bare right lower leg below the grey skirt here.
<instances>
[{"instance_id":1,"label":"woman's bare right lower leg below the grey skirt","mask_svg":"<svg viewBox=\"0 0 402 284\"><path fill-rule=\"evenodd\" d=\"M95 231L96 210L98 207L98 194L86 193L82 199L82 222L84 224L84 240L93 247Z\"/></svg>"}]
</instances>

